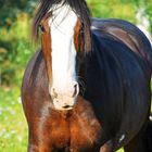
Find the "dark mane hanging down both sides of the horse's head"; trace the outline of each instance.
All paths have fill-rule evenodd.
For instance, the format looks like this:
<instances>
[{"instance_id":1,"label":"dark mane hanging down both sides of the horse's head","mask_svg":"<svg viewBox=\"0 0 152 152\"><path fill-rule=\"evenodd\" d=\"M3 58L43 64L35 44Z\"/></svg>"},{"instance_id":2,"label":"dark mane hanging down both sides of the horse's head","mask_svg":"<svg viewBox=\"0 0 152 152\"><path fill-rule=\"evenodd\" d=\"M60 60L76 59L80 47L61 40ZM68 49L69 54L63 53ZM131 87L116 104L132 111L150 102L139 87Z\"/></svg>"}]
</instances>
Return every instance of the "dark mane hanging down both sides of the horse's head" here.
<instances>
[{"instance_id":1,"label":"dark mane hanging down both sides of the horse's head","mask_svg":"<svg viewBox=\"0 0 152 152\"><path fill-rule=\"evenodd\" d=\"M51 9L55 9L55 4L68 4L72 10L77 14L83 24L84 49L85 51L91 50L91 33L90 33L90 12L85 0L40 0L37 13L33 22L33 37L38 39L38 28L42 17Z\"/></svg>"}]
</instances>

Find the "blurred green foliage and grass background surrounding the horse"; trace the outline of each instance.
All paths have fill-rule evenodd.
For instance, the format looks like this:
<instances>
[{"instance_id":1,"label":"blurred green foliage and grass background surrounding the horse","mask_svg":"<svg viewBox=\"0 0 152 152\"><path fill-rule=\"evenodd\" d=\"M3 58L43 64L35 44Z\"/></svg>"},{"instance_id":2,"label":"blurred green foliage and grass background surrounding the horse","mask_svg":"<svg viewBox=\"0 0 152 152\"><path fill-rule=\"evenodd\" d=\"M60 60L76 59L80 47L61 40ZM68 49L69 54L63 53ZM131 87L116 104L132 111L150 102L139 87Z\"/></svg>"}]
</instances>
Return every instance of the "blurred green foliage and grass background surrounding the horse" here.
<instances>
[{"instance_id":1,"label":"blurred green foliage and grass background surrounding the horse","mask_svg":"<svg viewBox=\"0 0 152 152\"><path fill-rule=\"evenodd\" d=\"M127 20L151 39L151 0L87 2L92 16ZM20 89L27 62L36 50L30 25L37 5L38 0L0 0L0 152L27 151L28 131Z\"/></svg>"}]
</instances>

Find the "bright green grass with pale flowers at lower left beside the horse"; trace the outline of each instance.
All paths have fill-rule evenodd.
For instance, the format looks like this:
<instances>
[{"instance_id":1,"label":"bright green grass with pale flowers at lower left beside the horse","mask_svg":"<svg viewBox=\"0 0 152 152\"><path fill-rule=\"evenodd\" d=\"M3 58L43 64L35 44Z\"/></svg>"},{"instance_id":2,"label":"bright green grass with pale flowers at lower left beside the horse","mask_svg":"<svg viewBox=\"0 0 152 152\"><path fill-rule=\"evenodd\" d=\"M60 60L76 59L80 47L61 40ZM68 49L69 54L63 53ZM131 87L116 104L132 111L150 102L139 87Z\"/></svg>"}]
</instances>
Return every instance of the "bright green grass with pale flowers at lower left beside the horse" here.
<instances>
[{"instance_id":1,"label":"bright green grass with pale flowers at lower left beside the horse","mask_svg":"<svg viewBox=\"0 0 152 152\"><path fill-rule=\"evenodd\" d=\"M27 151L27 124L20 90L0 88L0 152Z\"/></svg>"}]
</instances>

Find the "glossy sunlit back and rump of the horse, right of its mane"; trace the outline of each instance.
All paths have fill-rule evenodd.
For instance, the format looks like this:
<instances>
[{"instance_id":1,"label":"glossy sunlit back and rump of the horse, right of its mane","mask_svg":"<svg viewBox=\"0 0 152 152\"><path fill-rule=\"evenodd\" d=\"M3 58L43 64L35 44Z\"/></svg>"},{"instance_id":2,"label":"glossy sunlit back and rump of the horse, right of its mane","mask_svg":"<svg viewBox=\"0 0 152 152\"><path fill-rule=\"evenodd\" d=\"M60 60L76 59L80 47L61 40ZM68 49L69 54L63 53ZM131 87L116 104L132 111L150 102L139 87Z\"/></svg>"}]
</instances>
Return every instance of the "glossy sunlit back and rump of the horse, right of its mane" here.
<instances>
[{"instance_id":1,"label":"glossy sunlit back and rump of the horse, right of its mane","mask_svg":"<svg viewBox=\"0 0 152 152\"><path fill-rule=\"evenodd\" d=\"M138 53L151 62L151 43L145 35L134 24L124 20L98 20L92 18L92 28L111 35L114 39L122 41L131 51Z\"/></svg>"}]
</instances>

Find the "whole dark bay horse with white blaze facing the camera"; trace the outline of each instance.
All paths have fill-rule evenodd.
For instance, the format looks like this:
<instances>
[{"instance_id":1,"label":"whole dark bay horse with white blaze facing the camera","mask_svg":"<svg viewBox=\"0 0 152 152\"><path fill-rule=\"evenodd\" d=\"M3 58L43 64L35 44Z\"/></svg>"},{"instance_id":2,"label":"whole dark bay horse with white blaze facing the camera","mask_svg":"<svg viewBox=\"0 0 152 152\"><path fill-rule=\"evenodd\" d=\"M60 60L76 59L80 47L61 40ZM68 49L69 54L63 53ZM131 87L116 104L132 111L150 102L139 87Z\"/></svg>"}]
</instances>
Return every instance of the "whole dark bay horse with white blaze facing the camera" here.
<instances>
[{"instance_id":1,"label":"whole dark bay horse with white blaze facing the camera","mask_svg":"<svg viewBox=\"0 0 152 152\"><path fill-rule=\"evenodd\" d=\"M40 0L33 30L42 47L22 85L28 152L152 152L144 34L91 18L85 0Z\"/></svg>"}]
</instances>

